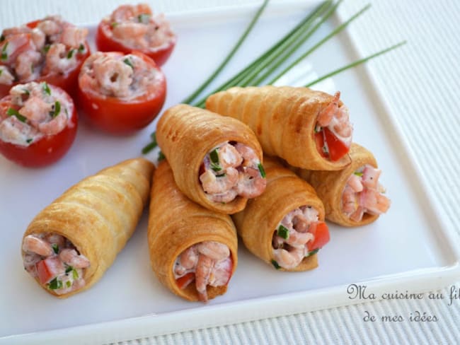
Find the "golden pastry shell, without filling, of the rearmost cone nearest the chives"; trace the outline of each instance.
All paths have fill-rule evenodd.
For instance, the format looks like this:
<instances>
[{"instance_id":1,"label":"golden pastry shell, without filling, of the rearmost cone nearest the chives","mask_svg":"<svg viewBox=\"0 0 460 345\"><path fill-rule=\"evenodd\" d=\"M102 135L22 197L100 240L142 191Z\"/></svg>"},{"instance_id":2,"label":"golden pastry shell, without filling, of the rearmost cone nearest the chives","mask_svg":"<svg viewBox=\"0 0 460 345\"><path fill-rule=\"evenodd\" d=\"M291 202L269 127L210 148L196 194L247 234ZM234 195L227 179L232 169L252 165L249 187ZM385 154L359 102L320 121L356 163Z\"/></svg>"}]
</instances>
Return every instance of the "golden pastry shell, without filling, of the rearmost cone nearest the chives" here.
<instances>
[{"instance_id":1,"label":"golden pastry shell, without filling, of the rearmost cone nearest the chives","mask_svg":"<svg viewBox=\"0 0 460 345\"><path fill-rule=\"evenodd\" d=\"M265 154L299 168L340 170L350 164L350 157L335 162L323 158L314 139L316 118L331 100L332 95L309 88L235 87L210 95L206 108L248 124Z\"/></svg>"}]
</instances>

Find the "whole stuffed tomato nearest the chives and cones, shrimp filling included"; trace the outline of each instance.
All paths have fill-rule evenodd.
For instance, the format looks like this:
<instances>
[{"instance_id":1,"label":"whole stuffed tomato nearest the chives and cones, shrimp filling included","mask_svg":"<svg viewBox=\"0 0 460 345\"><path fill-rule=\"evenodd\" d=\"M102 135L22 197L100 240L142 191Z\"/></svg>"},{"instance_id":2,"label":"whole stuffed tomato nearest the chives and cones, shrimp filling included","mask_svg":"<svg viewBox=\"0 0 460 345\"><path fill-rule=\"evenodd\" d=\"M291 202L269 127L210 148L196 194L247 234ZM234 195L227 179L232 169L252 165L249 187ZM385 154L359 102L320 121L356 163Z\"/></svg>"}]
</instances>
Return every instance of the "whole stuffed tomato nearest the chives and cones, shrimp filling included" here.
<instances>
[{"instance_id":1,"label":"whole stuffed tomato nearest the chives and cones, shrimp filling included","mask_svg":"<svg viewBox=\"0 0 460 345\"><path fill-rule=\"evenodd\" d=\"M96 127L132 134L159 114L166 78L141 52L96 52L81 67L79 106Z\"/></svg>"}]
</instances>

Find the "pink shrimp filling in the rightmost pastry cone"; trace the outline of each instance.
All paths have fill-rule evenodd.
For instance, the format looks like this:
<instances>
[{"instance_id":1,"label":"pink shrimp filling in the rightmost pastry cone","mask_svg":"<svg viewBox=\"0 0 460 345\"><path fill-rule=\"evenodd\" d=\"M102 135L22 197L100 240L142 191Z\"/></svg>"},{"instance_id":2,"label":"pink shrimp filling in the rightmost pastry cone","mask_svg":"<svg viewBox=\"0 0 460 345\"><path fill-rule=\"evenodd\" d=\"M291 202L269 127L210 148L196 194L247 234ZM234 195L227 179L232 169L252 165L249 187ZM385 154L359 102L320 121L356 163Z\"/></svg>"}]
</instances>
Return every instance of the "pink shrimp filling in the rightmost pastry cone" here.
<instances>
[{"instance_id":1,"label":"pink shrimp filling in the rightmost pastry cone","mask_svg":"<svg viewBox=\"0 0 460 345\"><path fill-rule=\"evenodd\" d=\"M361 221L364 214L383 214L390 207L385 188L379 183L381 170L364 165L348 177L342 194L342 210L352 221Z\"/></svg>"}]
</instances>

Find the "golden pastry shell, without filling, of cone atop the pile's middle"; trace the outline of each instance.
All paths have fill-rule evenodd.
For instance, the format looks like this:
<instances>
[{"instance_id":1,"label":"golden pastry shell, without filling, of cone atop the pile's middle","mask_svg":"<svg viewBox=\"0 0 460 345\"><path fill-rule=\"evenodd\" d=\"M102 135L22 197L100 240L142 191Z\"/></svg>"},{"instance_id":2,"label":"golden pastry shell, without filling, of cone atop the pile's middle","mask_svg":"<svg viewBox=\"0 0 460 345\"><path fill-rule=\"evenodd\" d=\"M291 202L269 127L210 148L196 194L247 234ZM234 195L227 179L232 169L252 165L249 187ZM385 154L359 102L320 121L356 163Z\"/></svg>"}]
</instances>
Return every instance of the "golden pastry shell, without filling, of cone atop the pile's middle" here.
<instances>
[{"instance_id":1,"label":"golden pastry shell, without filling, of cone atop the pile's middle","mask_svg":"<svg viewBox=\"0 0 460 345\"><path fill-rule=\"evenodd\" d=\"M226 204L211 201L202 189L199 176L207 153L225 141L250 146L262 163L262 148L246 124L198 107L175 105L161 116L156 140L171 165L176 184L187 197L224 214L234 214L244 208L247 199L239 196Z\"/></svg>"}]
</instances>

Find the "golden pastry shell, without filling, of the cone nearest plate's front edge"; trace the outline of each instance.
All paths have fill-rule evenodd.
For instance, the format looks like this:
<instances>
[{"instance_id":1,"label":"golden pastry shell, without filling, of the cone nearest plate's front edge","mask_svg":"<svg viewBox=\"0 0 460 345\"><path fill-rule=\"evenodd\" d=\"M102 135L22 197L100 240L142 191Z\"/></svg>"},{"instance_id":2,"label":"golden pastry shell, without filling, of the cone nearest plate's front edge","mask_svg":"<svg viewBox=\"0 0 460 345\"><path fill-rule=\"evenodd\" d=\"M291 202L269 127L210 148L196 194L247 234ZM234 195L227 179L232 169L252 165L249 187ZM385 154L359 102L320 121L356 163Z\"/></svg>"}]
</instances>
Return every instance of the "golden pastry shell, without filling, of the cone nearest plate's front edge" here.
<instances>
[{"instance_id":1,"label":"golden pastry shell, without filling, of the cone nearest plate's front edge","mask_svg":"<svg viewBox=\"0 0 460 345\"><path fill-rule=\"evenodd\" d=\"M233 259L233 271L238 264L238 239L230 216L209 211L185 197L174 182L166 160L156 169L151 189L149 230L151 267L161 283L187 300L199 300L195 283L180 289L174 278L174 262L178 255L195 243L217 241L227 245ZM227 286L207 286L209 299L222 295Z\"/></svg>"}]
</instances>

